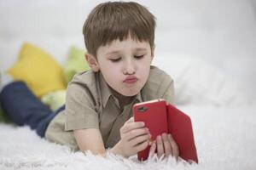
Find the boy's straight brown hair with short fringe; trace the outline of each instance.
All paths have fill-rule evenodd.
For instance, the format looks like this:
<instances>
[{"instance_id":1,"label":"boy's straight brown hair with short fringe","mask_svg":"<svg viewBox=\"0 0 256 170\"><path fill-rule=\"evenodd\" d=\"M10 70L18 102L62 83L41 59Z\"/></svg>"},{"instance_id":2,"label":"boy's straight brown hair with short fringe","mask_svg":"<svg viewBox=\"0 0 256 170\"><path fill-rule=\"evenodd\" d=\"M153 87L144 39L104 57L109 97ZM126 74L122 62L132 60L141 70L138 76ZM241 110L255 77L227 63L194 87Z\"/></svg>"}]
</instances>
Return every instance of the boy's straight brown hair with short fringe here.
<instances>
[{"instance_id":1,"label":"boy's straight brown hair with short fringe","mask_svg":"<svg viewBox=\"0 0 256 170\"><path fill-rule=\"evenodd\" d=\"M113 40L131 38L154 47L155 17L138 3L108 2L94 8L84 22L85 47L96 57L97 49Z\"/></svg>"}]
</instances>

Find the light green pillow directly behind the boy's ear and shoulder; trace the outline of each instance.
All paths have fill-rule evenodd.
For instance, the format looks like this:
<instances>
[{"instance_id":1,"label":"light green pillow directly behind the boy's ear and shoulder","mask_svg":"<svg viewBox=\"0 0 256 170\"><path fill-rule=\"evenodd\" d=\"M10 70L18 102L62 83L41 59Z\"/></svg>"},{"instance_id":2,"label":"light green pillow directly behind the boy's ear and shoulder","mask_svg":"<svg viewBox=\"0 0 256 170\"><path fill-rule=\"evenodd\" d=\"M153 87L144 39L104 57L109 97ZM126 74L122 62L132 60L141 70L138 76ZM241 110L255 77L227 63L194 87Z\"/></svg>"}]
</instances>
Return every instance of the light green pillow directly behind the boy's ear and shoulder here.
<instances>
[{"instance_id":1,"label":"light green pillow directly behind the boy's ear and shoulder","mask_svg":"<svg viewBox=\"0 0 256 170\"><path fill-rule=\"evenodd\" d=\"M84 54L85 51L83 49L79 49L74 46L69 48L67 63L64 66L64 78L66 85L72 80L76 73L90 70L90 66L87 63Z\"/></svg>"}]
</instances>

